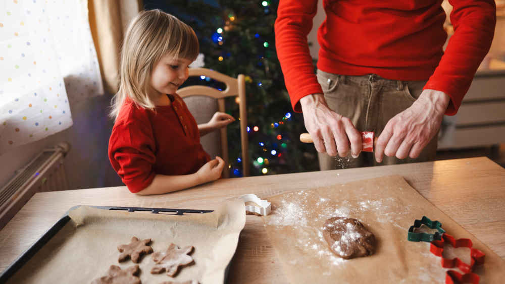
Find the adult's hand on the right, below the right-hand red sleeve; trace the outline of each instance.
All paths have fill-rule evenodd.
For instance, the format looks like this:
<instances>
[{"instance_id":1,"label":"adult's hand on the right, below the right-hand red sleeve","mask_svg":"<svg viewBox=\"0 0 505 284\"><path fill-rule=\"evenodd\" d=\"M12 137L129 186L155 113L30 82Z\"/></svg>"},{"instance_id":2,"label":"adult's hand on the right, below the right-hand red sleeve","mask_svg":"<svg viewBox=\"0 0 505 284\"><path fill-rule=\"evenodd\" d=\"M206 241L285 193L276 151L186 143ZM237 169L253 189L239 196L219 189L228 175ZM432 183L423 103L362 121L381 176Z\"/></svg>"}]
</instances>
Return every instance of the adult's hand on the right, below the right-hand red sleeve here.
<instances>
[{"instance_id":1,"label":"adult's hand on the right, below the right-hand red sleeve","mask_svg":"<svg viewBox=\"0 0 505 284\"><path fill-rule=\"evenodd\" d=\"M438 133L449 100L444 92L424 90L409 108L387 122L375 144L375 160L382 162L384 154L417 158Z\"/></svg>"}]
</instances>

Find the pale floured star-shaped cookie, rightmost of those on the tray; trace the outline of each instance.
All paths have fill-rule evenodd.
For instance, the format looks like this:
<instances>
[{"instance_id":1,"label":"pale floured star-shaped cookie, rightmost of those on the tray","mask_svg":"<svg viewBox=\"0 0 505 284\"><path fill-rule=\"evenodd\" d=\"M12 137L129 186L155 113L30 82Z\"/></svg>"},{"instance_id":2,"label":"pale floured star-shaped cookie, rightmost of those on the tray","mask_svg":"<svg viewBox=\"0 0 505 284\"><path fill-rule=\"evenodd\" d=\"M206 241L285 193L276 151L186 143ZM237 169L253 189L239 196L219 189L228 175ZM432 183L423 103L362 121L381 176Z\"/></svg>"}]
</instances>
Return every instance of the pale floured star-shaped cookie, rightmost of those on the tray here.
<instances>
[{"instance_id":1,"label":"pale floured star-shaped cookie, rightmost of those on the tray","mask_svg":"<svg viewBox=\"0 0 505 284\"><path fill-rule=\"evenodd\" d=\"M155 252L153 259L155 266L151 273L158 274L167 271L167 275L173 277L179 266L187 265L193 262L193 258L188 254L193 250L192 246L179 248L175 244L170 244L166 252Z\"/></svg>"}]
</instances>

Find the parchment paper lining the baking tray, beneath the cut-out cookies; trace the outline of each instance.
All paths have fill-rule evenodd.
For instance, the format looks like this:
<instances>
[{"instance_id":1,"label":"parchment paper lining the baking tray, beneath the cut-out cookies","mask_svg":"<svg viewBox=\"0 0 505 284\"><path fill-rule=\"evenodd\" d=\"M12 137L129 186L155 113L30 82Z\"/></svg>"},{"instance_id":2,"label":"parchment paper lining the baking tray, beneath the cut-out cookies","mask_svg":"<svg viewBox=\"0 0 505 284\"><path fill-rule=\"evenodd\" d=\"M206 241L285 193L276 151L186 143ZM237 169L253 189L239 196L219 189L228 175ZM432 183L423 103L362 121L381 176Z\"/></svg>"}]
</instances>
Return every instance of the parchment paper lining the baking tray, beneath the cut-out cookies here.
<instances>
[{"instance_id":1,"label":"parchment paper lining the baking tray, beneath the cut-out cookies","mask_svg":"<svg viewBox=\"0 0 505 284\"><path fill-rule=\"evenodd\" d=\"M194 264L179 268L175 277L151 274L152 254L140 263L142 283L198 280L223 283L238 236L245 224L243 201L228 201L214 212L177 216L126 211L109 211L81 206L69 212L71 220L9 283L90 283L107 275L111 265L125 269L131 260L119 263L118 245L131 237L152 239L155 252L165 251L170 243L193 246Z\"/></svg>"}]
</instances>

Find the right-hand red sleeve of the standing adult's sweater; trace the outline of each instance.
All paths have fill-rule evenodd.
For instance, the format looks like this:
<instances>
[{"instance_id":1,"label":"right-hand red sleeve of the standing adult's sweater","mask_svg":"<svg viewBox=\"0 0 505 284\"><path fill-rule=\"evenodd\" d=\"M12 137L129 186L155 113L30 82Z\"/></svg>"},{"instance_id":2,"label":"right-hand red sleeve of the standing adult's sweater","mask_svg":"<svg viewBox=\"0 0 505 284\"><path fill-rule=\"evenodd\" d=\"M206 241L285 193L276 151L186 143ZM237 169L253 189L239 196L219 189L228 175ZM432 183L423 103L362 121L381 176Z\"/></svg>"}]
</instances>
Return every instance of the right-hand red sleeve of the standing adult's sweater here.
<instances>
[{"instance_id":1,"label":"right-hand red sleeve of the standing adult's sweater","mask_svg":"<svg viewBox=\"0 0 505 284\"><path fill-rule=\"evenodd\" d=\"M438 67L424 89L446 93L450 97L446 115L456 115L473 77L491 47L496 25L493 0L449 0L453 6L450 37Z\"/></svg>"}]
</instances>

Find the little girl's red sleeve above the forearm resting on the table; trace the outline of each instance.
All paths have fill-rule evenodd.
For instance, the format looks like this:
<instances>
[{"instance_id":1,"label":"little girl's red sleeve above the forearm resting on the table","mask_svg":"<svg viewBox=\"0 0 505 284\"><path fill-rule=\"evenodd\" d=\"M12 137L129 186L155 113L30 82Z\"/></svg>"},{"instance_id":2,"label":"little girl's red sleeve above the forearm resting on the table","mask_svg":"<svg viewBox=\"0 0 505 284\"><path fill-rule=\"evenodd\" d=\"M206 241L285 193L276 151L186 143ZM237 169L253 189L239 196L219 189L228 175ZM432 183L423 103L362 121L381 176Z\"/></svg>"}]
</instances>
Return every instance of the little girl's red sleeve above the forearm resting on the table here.
<instances>
[{"instance_id":1,"label":"little girl's red sleeve above the forearm resting on the table","mask_svg":"<svg viewBox=\"0 0 505 284\"><path fill-rule=\"evenodd\" d=\"M156 175L155 141L147 128L135 122L121 123L109 140L111 164L132 193L149 186Z\"/></svg>"}]
</instances>

